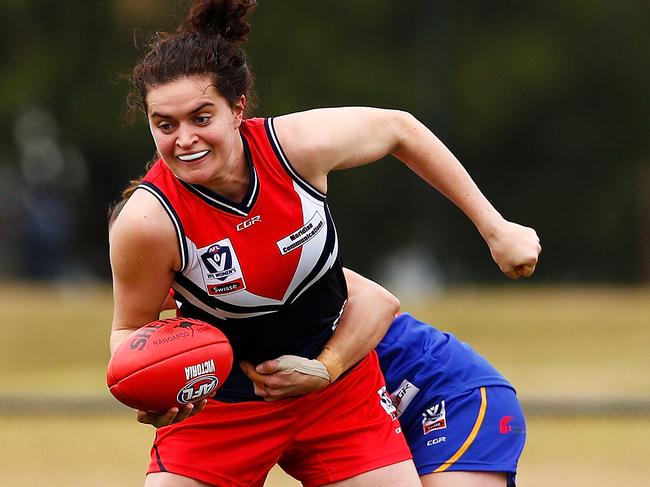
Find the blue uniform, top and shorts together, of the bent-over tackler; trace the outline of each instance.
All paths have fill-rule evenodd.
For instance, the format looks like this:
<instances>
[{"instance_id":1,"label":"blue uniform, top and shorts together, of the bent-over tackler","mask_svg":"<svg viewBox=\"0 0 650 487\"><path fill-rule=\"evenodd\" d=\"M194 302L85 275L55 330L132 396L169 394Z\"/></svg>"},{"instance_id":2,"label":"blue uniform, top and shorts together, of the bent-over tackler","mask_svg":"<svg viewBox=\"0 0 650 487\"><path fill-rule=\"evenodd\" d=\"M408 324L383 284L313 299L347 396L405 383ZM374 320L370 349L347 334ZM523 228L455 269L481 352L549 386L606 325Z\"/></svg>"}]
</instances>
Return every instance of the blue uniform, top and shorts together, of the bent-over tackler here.
<instances>
[{"instance_id":1,"label":"blue uniform, top and shorts together, of the bent-over tackler","mask_svg":"<svg viewBox=\"0 0 650 487\"><path fill-rule=\"evenodd\" d=\"M526 440L512 385L454 335L408 313L377 346L386 386L420 475L510 473Z\"/></svg>"}]
</instances>

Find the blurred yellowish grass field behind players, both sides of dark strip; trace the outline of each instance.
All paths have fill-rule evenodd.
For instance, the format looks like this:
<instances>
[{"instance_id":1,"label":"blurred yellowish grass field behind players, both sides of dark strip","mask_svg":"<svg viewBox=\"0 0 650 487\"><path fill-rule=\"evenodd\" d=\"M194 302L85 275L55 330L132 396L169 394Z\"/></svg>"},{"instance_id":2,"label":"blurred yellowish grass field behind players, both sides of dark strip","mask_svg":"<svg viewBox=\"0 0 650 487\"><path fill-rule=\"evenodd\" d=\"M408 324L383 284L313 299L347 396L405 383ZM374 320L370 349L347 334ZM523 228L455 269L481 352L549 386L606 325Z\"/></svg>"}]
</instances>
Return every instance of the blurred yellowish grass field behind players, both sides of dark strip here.
<instances>
[{"instance_id":1,"label":"blurred yellowish grass field behind players, both sides of dark strip","mask_svg":"<svg viewBox=\"0 0 650 487\"><path fill-rule=\"evenodd\" d=\"M523 289L523 290L522 290ZM0 285L0 399L107 398L107 287ZM458 289L416 316L472 343L527 399L650 399L650 289ZM650 485L650 417L529 416L521 486ZM142 485L153 430L114 414L0 414L0 485ZM296 485L273 472L268 486Z\"/></svg>"}]
</instances>

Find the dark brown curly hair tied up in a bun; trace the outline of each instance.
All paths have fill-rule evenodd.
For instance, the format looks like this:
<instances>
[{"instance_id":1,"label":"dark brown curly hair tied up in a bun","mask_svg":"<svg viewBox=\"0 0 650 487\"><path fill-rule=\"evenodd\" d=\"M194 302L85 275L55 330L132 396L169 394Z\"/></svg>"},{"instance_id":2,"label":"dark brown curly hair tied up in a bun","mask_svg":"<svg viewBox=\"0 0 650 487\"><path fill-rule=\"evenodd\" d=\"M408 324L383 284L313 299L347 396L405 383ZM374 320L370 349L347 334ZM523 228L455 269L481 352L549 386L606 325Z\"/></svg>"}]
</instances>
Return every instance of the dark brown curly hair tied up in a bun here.
<instances>
[{"instance_id":1,"label":"dark brown curly hair tied up in a bun","mask_svg":"<svg viewBox=\"0 0 650 487\"><path fill-rule=\"evenodd\" d=\"M150 88L192 75L210 76L231 106L245 95L250 109L253 74L241 45L250 31L246 17L255 5L255 0L195 0L175 32L156 33L129 77L130 118L146 115Z\"/></svg>"}]
</instances>

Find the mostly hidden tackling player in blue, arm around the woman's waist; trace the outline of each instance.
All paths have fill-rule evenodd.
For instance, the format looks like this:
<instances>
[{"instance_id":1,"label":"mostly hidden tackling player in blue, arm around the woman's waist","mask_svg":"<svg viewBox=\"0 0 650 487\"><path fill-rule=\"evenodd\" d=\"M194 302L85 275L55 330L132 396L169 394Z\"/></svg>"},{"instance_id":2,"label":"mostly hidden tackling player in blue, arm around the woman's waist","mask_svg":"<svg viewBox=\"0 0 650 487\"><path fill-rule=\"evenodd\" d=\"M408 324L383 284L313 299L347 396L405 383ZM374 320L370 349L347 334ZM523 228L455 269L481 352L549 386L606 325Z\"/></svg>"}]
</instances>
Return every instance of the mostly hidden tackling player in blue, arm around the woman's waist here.
<instances>
[{"instance_id":1,"label":"mostly hidden tackling player in blue, arm around the woman's waist","mask_svg":"<svg viewBox=\"0 0 650 487\"><path fill-rule=\"evenodd\" d=\"M388 291L346 269L350 297L327 346L341 369L376 344L386 387L425 487L514 487L526 421L513 386L450 333L408 313L390 316ZM374 287L373 287L374 285ZM268 401L328 383L300 357L242 367ZM280 461L282 466L282 461Z\"/></svg>"}]
</instances>

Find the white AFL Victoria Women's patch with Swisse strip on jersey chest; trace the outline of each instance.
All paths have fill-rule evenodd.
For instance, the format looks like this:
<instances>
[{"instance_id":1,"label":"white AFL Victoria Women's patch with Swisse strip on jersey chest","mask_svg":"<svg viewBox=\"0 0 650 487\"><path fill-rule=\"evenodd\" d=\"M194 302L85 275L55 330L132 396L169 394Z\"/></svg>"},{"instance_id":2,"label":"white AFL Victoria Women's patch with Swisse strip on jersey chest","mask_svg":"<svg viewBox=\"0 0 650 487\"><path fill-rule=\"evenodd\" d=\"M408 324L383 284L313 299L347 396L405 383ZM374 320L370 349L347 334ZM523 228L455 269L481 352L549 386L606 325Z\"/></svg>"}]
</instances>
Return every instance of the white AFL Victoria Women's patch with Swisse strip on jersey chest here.
<instances>
[{"instance_id":1,"label":"white AFL Victoria Women's patch with Swisse strip on jersey chest","mask_svg":"<svg viewBox=\"0 0 650 487\"><path fill-rule=\"evenodd\" d=\"M206 290L211 296L246 289L239 260L229 238L198 249Z\"/></svg>"}]
</instances>

